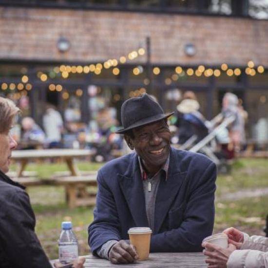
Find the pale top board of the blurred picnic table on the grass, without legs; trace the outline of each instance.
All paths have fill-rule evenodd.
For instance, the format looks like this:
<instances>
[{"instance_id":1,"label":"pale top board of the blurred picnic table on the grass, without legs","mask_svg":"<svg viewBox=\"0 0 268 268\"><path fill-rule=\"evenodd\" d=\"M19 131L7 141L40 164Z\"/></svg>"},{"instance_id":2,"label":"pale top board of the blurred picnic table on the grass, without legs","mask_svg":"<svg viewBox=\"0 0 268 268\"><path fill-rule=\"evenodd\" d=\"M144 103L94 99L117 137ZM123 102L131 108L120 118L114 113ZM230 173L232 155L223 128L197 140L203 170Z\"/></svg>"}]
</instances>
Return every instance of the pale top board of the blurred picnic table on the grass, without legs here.
<instances>
[{"instance_id":1,"label":"pale top board of the blurred picnic table on the grass, without legs","mask_svg":"<svg viewBox=\"0 0 268 268\"><path fill-rule=\"evenodd\" d=\"M15 150L12 159L49 158L49 157L82 157L92 155L89 149L43 149L43 150Z\"/></svg>"}]
</instances>

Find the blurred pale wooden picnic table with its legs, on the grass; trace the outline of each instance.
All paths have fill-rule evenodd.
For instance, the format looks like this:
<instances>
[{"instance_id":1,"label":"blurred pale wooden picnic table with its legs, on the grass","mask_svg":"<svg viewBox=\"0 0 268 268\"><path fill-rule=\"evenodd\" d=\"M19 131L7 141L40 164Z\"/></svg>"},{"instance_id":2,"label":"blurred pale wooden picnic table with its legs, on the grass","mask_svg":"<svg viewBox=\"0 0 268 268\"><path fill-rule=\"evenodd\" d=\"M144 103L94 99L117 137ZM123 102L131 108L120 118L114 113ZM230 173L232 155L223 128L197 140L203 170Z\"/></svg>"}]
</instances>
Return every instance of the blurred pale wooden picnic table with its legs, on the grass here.
<instances>
[{"instance_id":1,"label":"blurred pale wooden picnic table with its legs, on the grass","mask_svg":"<svg viewBox=\"0 0 268 268\"><path fill-rule=\"evenodd\" d=\"M90 156L94 150L89 149L44 149L44 150L16 150L12 152L12 159L20 162L17 172L18 177L22 177L28 162L33 159L53 159L62 158L65 160L72 176L79 175L74 158Z\"/></svg>"}]
</instances>

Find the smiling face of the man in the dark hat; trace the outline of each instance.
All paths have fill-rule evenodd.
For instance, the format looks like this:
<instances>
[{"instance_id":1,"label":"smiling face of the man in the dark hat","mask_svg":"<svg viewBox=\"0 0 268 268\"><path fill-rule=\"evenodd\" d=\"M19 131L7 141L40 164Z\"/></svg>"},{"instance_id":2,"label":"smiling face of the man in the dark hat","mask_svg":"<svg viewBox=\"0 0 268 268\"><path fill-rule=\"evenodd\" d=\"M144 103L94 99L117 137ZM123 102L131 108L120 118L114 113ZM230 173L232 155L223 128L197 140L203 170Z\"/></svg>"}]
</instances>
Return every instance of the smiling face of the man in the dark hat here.
<instances>
[{"instance_id":1,"label":"smiling face of the man in the dark hat","mask_svg":"<svg viewBox=\"0 0 268 268\"><path fill-rule=\"evenodd\" d=\"M170 153L171 133L165 120L133 129L131 139L137 154L149 172L165 164Z\"/></svg>"}]
</instances>

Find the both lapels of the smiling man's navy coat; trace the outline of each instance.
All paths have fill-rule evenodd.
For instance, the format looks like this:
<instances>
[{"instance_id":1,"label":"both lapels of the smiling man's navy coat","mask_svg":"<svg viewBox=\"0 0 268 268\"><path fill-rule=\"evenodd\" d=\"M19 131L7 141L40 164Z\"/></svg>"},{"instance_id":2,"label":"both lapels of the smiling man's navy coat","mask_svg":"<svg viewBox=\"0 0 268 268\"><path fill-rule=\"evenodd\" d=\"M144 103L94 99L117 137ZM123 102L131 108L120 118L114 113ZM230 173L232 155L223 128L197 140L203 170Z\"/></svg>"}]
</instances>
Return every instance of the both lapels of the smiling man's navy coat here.
<instances>
[{"instance_id":1,"label":"both lapels of the smiling man's navy coat","mask_svg":"<svg viewBox=\"0 0 268 268\"><path fill-rule=\"evenodd\" d=\"M155 200L154 230L157 233L180 189L186 172L180 171L181 153L171 148L168 179L161 180ZM130 212L137 227L147 227L148 220L145 208L143 184L137 154L133 154L128 169L124 174L118 174L119 185L125 196Z\"/></svg>"}]
</instances>

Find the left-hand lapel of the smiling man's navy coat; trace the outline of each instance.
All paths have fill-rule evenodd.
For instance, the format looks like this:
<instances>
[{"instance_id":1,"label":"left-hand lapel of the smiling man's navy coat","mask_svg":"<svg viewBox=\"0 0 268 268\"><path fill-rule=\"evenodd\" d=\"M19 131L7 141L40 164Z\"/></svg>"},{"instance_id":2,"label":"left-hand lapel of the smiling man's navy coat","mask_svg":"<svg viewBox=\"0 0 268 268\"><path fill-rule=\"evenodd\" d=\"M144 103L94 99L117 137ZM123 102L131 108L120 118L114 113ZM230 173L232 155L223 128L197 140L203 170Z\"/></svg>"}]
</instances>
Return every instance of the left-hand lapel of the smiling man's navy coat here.
<instances>
[{"instance_id":1,"label":"left-hand lapel of the smiling man's navy coat","mask_svg":"<svg viewBox=\"0 0 268 268\"><path fill-rule=\"evenodd\" d=\"M145 209L145 198L140 169L137 163L137 156L134 157L132 169L119 176L119 185L127 201L129 210L134 222L138 227L148 227L148 220Z\"/></svg>"}]
</instances>

